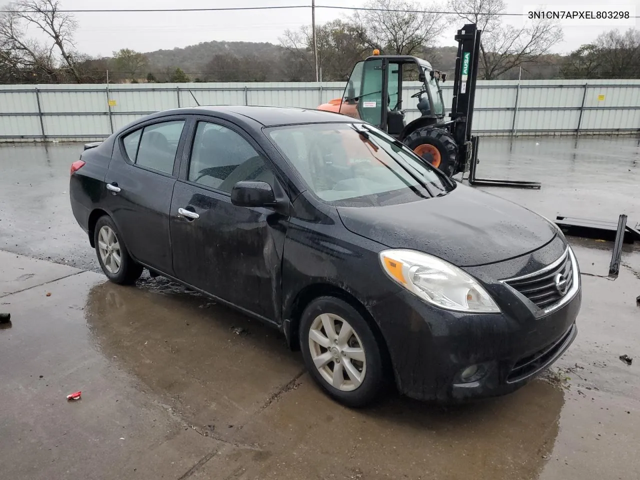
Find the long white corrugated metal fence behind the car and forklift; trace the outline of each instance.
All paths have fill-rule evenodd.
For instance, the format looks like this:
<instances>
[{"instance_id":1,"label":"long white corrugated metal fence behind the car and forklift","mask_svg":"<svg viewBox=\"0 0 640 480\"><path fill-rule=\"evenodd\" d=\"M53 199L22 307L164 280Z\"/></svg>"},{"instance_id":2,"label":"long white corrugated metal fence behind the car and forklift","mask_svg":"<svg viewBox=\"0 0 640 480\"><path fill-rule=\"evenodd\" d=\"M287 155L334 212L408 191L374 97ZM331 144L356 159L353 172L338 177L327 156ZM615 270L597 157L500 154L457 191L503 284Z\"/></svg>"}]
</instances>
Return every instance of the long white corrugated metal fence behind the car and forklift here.
<instances>
[{"instance_id":1,"label":"long white corrugated metal fence behind the car and forklift","mask_svg":"<svg viewBox=\"0 0 640 480\"><path fill-rule=\"evenodd\" d=\"M404 84L407 120L419 115ZM343 83L0 85L0 141L100 140L140 116L202 105L316 108ZM443 85L451 106L452 84ZM479 81L474 132L481 135L640 131L640 80Z\"/></svg>"}]
</instances>

